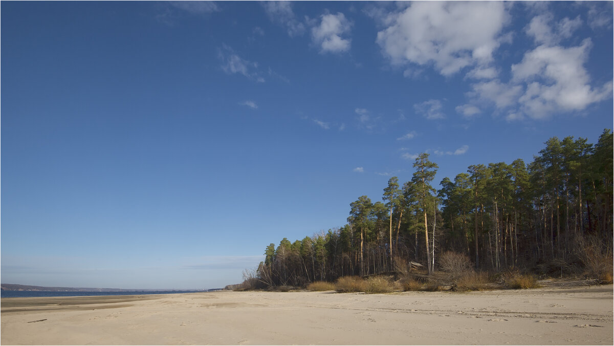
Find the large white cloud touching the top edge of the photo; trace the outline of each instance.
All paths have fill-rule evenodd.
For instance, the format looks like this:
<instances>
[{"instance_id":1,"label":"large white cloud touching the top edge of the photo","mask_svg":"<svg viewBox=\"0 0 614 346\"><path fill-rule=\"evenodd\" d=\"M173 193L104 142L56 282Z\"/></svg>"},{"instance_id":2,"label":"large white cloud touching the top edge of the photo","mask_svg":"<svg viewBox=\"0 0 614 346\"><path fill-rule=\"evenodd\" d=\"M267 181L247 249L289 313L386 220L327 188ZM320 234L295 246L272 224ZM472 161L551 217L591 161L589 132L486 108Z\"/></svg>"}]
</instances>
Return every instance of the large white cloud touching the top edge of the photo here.
<instances>
[{"instance_id":1,"label":"large white cloud touching the top edge of the photo","mask_svg":"<svg viewBox=\"0 0 614 346\"><path fill-rule=\"evenodd\" d=\"M393 65L432 64L450 76L492 61L507 17L503 2L416 1L380 20L377 42Z\"/></svg>"}]
</instances>

